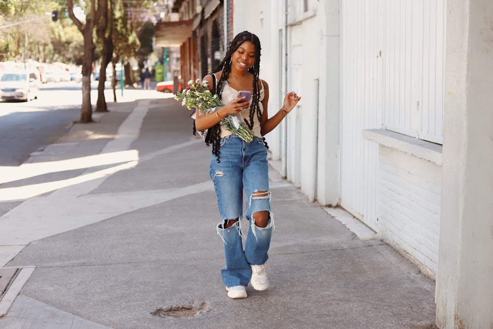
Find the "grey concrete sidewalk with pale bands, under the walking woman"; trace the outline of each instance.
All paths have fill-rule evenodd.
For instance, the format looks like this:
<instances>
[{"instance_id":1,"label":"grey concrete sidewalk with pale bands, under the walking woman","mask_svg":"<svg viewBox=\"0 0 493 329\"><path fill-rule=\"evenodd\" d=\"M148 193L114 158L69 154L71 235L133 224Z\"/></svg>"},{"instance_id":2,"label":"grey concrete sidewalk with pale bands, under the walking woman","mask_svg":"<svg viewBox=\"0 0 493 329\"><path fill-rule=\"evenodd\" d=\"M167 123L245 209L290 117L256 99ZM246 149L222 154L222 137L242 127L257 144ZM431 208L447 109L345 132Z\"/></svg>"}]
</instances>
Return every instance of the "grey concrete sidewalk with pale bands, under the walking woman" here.
<instances>
[{"instance_id":1,"label":"grey concrete sidewalk with pale bands, under the walking woman","mask_svg":"<svg viewBox=\"0 0 493 329\"><path fill-rule=\"evenodd\" d=\"M271 286L228 298L211 147L171 95L127 94L0 168L0 266L20 269L0 328L433 328L434 281L273 161Z\"/></svg>"}]
</instances>

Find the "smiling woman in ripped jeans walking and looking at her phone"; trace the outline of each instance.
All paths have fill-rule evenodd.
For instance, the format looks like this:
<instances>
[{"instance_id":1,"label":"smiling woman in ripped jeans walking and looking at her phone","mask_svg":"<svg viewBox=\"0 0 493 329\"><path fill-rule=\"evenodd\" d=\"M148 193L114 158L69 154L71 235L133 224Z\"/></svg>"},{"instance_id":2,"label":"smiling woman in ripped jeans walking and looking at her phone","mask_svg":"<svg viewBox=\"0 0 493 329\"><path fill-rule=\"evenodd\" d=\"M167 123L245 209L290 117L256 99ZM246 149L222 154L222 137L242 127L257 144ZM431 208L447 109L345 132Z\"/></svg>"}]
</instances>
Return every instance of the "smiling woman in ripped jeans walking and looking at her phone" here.
<instances>
[{"instance_id":1,"label":"smiling woman in ripped jeans walking and looking at her phone","mask_svg":"<svg viewBox=\"0 0 493 329\"><path fill-rule=\"evenodd\" d=\"M210 176L214 182L222 221L217 233L224 242L226 266L221 275L228 297L246 298L246 286L266 290L269 280L265 270L274 219L270 209L267 150L263 136L282 121L301 97L288 93L283 106L268 118L269 85L259 79L260 41L247 31L230 42L224 60L213 73L204 77L216 86L224 107L195 120L198 131L208 129L212 144ZM214 84L214 80L216 83ZM251 101L238 98L238 91L252 92ZM228 114L236 115L254 132L247 143L219 122ZM250 221L245 250L240 219L243 217L243 189L247 196L246 219Z\"/></svg>"}]
</instances>

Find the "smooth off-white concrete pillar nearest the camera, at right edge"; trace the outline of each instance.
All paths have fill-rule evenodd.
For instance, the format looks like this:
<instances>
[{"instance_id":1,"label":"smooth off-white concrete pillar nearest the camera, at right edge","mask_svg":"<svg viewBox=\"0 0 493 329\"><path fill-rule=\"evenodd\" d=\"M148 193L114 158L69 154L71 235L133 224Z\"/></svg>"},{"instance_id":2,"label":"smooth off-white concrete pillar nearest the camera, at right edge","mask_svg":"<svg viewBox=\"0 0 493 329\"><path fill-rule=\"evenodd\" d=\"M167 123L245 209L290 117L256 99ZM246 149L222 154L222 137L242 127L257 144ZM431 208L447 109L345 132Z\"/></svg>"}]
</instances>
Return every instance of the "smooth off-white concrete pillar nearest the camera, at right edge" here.
<instances>
[{"instance_id":1,"label":"smooth off-white concrete pillar nearest the camera, at right edge","mask_svg":"<svg viewBox=\"0 0 493 329\"><path fill-rule=\"evenodd\" d=\"M493 324L493 2L447 1L436 323Z\"/></svg>"}]
</instances>

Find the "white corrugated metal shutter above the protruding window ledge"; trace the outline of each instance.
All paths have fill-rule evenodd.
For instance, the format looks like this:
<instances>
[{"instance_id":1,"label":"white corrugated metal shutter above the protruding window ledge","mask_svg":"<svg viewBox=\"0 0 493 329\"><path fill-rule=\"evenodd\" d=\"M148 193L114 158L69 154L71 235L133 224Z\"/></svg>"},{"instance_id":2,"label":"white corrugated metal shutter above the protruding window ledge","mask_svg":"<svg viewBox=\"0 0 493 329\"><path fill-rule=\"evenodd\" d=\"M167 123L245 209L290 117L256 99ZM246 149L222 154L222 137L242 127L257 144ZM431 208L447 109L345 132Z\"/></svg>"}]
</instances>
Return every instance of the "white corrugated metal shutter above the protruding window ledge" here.
<instances>
[{"instance_id":1,"label":"white corrugated metal shutter above the protruding window ledge","mask_svg":"<svg viewBox=\"0 0 493 329\"><path fill-rule=\"evenodd\" d=\"M384 126L434 143L443 140L445 4L386 1Z\"/></svg>"}]
</instances>

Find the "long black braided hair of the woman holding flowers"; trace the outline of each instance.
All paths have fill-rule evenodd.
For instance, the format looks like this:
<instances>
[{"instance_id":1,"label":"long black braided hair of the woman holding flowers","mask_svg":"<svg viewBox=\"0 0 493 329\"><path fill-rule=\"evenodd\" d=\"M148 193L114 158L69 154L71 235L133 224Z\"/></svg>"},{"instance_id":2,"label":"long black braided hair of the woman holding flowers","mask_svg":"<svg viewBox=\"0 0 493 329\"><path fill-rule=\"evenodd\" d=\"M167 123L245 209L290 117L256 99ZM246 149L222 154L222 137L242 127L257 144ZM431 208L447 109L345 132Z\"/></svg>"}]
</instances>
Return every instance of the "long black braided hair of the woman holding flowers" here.
<instances>
[{"instance_id":1,"label":"long black braided hair of the woman holding flowers","mask_svg":"<svg viewBox=\"0 0 493 329\"><path fill-rule=\"evenodd\" d=\"M248 32L244 31L239 33L228 45L228 49L226 50L226 54L224 59L217 65L217 67L212 71L213 73L217 73L222 70L221 77L217 81L215 93L220 95L222 92L222 85L224 81L228 80L229 73L231 72L231 56L233 53L242 45L243 42L250 41L255 46L255 61L253 62L253 66L248 69L248 72L253 74L253 93L252 93L252 102L249 113L249 120L246 118L246 125L252 129L253 128L253 116L256 114L258 121L262 120L262 112L260 110L259 99L260 99L260 90L258 89L258 75L260 72L260 40L259 38ZM214 78L214 77L212 77ZM194 126L195 133L195 126ZM221 140L221 128L220 124L216 124L213 127L209 128L207 131L207 139L206 144L209 146L212 144L212 154L217 157L217 162L219 162L219 142ZM265 147L268 148L267 143L264 140Z\"/></svg>"}]
</instances>

